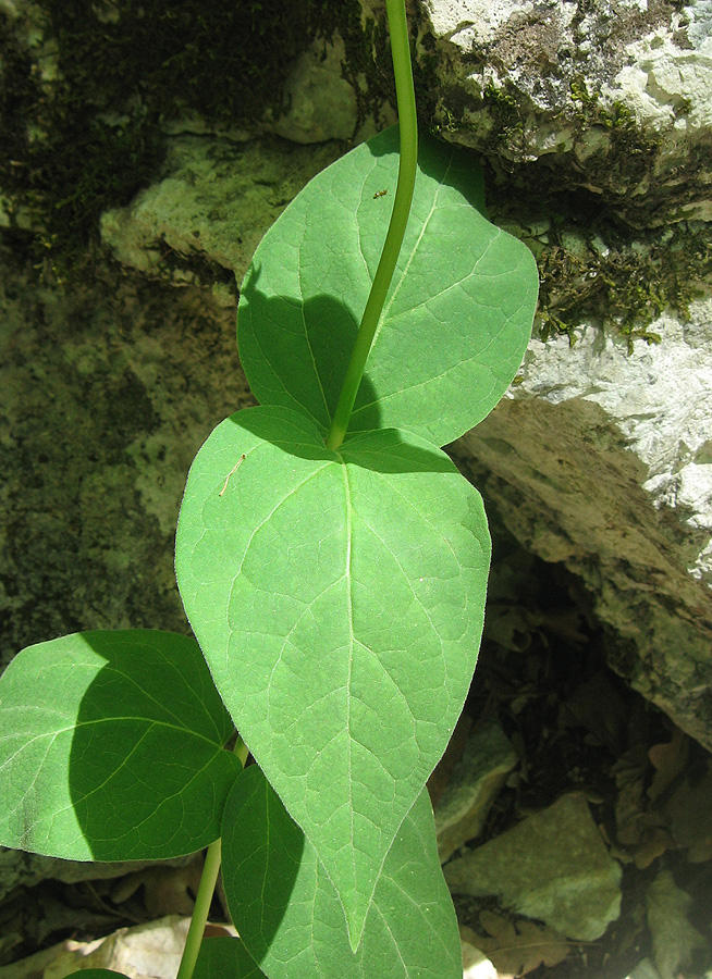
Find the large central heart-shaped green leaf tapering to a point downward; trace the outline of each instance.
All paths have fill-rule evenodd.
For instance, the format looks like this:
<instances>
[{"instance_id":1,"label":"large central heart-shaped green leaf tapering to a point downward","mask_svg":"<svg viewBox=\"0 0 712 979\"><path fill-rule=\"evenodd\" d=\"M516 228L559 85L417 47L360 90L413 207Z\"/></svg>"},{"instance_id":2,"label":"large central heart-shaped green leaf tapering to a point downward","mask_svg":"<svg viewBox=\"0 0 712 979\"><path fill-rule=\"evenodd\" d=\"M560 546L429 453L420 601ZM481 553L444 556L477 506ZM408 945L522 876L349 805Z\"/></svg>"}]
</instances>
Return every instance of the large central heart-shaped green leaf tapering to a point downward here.
<instances>
[{"instance_id":1,"label":"large central heart-shaped green leaf tapering to a point downward","mask_svg":"<svg viewBox=\"0 0 712 979\"><path fill-rule=\"evenodd\" d=\"M331 453L304 416L253 408L193 462L176 534L187 616L354 941L467 695L489 557L479 494L413 435Z\"/></svg>"}]
</instances>

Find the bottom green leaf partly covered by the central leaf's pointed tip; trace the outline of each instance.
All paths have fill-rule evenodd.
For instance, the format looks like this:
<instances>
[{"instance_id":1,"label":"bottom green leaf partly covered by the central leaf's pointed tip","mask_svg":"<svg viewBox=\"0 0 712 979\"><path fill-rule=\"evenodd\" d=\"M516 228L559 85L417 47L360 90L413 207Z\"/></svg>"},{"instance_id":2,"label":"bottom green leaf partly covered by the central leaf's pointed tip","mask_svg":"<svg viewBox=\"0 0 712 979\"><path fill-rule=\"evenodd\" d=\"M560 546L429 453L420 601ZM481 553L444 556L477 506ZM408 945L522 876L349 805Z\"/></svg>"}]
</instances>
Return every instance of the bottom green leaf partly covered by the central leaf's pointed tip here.
<instances>
[{"instance_id":1,"label":"bottom green leaf partly covered by the central leaf's pointed tip","mask_svg":"<svg viewBox=\"0 0 712 979\"><path fill-rule=\"evenodd\" d=\"M462 979L457 920L426 790L385 858L356 953L314 846L256 765L230 793L222 832L230 913L270 979Z\"/></svg>"}]
</instances>

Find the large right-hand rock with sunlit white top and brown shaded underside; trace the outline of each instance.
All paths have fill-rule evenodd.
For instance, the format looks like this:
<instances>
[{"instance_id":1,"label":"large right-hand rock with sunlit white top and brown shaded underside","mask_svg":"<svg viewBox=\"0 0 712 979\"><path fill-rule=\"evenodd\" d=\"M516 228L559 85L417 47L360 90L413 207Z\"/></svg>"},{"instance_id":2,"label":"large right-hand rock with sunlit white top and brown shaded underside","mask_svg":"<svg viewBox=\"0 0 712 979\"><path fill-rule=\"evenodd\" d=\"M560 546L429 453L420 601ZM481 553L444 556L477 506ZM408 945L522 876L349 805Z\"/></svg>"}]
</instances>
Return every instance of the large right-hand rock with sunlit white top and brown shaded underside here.
<instances>
[{"instance_id":1,"label":"large right-hand rock with sunlit white top and brown shaded underside","mask_svg":"<svg viewBox=\"0 0 712 979\"><path fill-rule=\"evenodd\" d=\"M586 326L533 339L456 448L519 542L588 585L611 666L712 748L712 300L652 329L633 352Z\"/></svg>"}]
</instances>

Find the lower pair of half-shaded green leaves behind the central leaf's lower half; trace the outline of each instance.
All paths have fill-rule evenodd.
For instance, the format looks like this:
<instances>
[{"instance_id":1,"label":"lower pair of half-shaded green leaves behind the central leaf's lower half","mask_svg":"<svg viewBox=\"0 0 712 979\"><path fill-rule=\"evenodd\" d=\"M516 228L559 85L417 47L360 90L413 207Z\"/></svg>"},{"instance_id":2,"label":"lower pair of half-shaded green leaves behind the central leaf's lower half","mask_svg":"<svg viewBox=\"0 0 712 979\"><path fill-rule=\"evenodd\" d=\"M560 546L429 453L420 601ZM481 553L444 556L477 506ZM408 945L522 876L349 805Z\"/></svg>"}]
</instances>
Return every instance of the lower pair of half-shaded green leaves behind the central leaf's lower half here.
<instances>
[{"instance_id":1,"label":"lower pair of half-shaded green leaves behind the central leaf's lower half","mask_svg":"<svg viewBox=\"0 0 712 979\"><path fill-rule=\"evenodd\" d=\"M118 630L30 646L0 680L0 705L3 844L161 859L222 837L241 941L208 942L197 977L462 976L427 791L398 829L352 953L314 846L260 769L241 771L224 749L233 724L195 640ZM116 974L96 971L106 975Z\"/></svg>"}]
</instances>

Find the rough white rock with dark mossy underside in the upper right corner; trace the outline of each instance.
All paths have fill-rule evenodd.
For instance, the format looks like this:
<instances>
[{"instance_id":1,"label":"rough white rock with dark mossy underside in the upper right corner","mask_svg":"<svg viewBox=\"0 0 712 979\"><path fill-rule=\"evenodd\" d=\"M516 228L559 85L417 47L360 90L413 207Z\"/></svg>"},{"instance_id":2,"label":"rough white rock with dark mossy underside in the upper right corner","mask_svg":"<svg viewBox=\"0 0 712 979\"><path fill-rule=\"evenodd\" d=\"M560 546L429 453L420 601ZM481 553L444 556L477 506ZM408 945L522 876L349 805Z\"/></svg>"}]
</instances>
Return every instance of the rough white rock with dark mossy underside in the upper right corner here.
<instances>
[{"instance_id":1,"label":"rough white rock with dark mossy underside in the upper right corner","mask_svg":"<svg viewBox=\"0 0 712 979\"><path fill-rule=\"evenodd\" d=\"M712 219L709 0L426 0L446 139L586 188L631 223ZM526 186L526 183L525 183Z\"/></svg>"}]
</instances>

